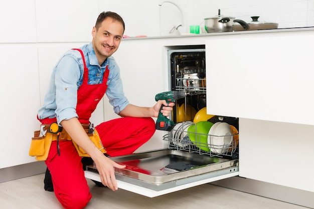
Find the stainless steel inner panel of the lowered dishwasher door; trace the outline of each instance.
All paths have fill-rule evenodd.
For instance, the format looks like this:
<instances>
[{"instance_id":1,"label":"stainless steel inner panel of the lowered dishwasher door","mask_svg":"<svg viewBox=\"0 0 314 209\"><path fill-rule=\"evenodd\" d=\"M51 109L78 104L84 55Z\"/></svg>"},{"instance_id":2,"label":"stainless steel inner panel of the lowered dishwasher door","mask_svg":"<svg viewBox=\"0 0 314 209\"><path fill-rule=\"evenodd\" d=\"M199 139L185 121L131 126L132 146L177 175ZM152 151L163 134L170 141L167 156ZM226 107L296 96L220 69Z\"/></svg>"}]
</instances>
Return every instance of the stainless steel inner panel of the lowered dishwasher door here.
<instances>
[{"instance_id":1,"label":"stainless steel inner panel of the lowered dishwasher door","mask_svg":"<svg viewBox=\"0 0 314 209\"><path fill-rule=\"evenodd\" d=\"M208 173L208 175L215 175L214 173L217 173L217 175L219 175L219 172L217 172L219 170L225 170L223 172L235 172L238 167L237 159L229 160L200 155L199 153L169 149L112 157L111 159L126 165L126 168L115 169L116 176L118 176L117 179L127 179L128 181L134 179L137 184L142 183L144 185L150 185L153 188L162 188L164 185L169 187L171 184L173 184L171 186L174 186L180 182L178 181L180 179L185 181L185 179L193 179L194 176L205 173ZM173 173L163 169L167 165L177 163L178 161L187 163L188 165L192 164L194 168L182 171L175 170ZM87 169L92 172L97 172L96 168L90 166L88 166ZM168 182L169 185L166 185L165 183ZM155 184L155 186L152 184Z\"/></svg>"}]
</instances>

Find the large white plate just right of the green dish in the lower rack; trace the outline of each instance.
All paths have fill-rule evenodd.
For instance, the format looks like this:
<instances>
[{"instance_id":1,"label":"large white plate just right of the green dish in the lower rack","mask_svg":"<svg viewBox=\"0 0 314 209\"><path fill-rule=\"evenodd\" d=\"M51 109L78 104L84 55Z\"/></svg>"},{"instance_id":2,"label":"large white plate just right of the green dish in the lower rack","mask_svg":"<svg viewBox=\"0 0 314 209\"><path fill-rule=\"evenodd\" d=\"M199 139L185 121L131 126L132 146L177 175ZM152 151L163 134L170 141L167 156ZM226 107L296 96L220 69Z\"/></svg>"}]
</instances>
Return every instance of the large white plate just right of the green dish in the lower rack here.
<instances>
[{"instance_id":1,"label":"large white plate just right of the green dish in the lower rack","mask_svg":"<svg viewBox=\"0 0 314 209\"><path fill-rule=\"evenodd\" d=\"M218 124L211 135L211 151L217 154L223 154L227 152L233 140L230 125L225 122Z\"/></svg>"}]
</instances>

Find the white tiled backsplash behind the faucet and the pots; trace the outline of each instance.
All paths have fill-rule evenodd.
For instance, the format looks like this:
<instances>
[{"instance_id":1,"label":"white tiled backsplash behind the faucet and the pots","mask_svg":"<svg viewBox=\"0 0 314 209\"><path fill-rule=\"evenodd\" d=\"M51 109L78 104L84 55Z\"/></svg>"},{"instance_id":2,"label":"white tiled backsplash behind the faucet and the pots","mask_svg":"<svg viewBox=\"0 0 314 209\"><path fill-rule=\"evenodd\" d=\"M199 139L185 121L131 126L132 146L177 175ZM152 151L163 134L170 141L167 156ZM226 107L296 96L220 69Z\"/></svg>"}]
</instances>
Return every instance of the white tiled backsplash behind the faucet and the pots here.
<instances>
[{"instance_id":1,"label":"white tiled backsplash behind the faucet and the pots","mask_svg":"<svg viewBox=\"0 0 314 209\"><path fill-rule=\"evenodd\" d=\"M162 2L162 1L161 1ZM201 25L204 18L218 15L235 17L251 21L251 16L260 16L259 21L279 23L278 28L313 27L314 0L172 0L184 13L187 26ZM176 6L165 3L160 7L161 35L169 35L173 26L182 24L178 21ZM186 28L189 32L188 27Z\"/></svg>"}]
</instances>

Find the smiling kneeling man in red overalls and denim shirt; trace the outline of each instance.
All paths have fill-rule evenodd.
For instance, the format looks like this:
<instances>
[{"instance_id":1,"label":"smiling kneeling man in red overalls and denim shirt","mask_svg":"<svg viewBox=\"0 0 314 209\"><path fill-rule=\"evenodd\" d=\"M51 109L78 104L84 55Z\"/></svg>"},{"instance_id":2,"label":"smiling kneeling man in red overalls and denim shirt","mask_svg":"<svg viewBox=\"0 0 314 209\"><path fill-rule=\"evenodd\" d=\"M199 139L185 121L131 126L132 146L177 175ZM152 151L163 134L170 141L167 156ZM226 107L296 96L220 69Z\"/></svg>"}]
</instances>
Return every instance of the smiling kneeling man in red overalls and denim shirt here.
<instances>
[{"instance_id":1,"label":"smiling kneeling man in red overalls and denim shirt","mask_svg":"<svg viewBox=\"0 0 314 209\"><path fill-rule=\"evenodd\" d=\"M116 13L103 12L92 29L92 43L69 50L55 66L44 105L38 111L42 124L57 122L94 161L103 185L116 190L114 167L124 166L106 157L89 139L82 124L88 124L104 93L115 113L121 116L95 127L110 156L133 153L153 135L151 117L169 116L171 103L158 101L153 107L138 107L124 96L119 67L111 55L118 49L124 22ZM84 62L85 61L85 62ZM84 72L84 64L86 68ZM123 127L123 131L121 130ZM72 141L53 141L45 161L51 172L55 195L65 208L83 208L91 198L81 157Z\"/></svg>"}]
</instances>

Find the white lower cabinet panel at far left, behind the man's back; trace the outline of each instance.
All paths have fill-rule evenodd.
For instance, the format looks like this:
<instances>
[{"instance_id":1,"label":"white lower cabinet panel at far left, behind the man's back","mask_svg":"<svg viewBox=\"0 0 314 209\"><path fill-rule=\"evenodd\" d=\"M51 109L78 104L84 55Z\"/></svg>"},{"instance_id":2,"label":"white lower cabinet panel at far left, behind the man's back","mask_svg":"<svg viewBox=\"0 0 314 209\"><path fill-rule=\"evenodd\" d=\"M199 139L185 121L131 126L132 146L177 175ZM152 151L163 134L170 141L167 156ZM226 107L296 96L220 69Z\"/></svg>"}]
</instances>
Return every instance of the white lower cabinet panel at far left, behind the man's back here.
<instances>
[{"instance_id":1,"label":"white lower cabinet panel at far left, behind the man's back","mask_svg":"<svg viewBox=\"0 0 314 209\"><path fill-rule=\"evenodd\" d=\"M36 47L0 46L0 168L34 161L29 147L40 107Z\"/></svg>"}]
</instances>

